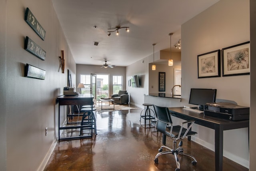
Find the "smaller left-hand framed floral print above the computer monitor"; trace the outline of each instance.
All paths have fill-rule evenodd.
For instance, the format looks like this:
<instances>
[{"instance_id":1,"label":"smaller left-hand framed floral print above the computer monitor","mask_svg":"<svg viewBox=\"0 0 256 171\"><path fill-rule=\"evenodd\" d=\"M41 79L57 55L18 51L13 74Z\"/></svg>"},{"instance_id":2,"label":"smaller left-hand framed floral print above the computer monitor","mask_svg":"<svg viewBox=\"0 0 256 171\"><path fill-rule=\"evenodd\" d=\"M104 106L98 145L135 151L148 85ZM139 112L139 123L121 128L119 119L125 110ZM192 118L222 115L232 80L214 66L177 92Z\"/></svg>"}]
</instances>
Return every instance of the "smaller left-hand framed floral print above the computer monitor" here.
<instances>
[{"instance_id":1,"label":"smaller left-hand framed floral print above the computer monitor","mask_svg":"<svg viewBox=\"0 0 256 171\"><path fill-rule=\"evenodd\" d=\"M220 50L197 56L198 78L220 77Z\"/></svg>"}]
</instances>

